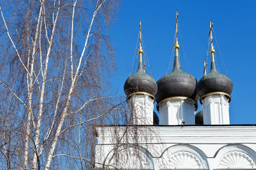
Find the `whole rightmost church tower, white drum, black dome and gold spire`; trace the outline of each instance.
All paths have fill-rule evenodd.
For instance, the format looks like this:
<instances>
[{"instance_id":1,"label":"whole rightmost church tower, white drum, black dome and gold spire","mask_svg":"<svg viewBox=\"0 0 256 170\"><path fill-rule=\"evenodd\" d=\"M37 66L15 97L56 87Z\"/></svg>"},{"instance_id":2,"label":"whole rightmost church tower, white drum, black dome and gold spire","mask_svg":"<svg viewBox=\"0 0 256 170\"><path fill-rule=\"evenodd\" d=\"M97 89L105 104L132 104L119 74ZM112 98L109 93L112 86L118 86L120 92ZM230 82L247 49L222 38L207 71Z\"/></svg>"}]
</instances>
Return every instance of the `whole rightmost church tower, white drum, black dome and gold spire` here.
<instances>
[{"instance_id":1,"label":"whole rightmost church tower, white drum, black dome and gold spire","mask_svg":"<svg viewBox=\"0 0 256 170\"><path fill-rule=\"evenodd\" d=\"M212 26L213 23L210 22L211 71L199 80L196 90L203 108L204 125L229 125L229 102L231 101L233 83L227 76L216 70Z\"/></svg>"}]
</instances>

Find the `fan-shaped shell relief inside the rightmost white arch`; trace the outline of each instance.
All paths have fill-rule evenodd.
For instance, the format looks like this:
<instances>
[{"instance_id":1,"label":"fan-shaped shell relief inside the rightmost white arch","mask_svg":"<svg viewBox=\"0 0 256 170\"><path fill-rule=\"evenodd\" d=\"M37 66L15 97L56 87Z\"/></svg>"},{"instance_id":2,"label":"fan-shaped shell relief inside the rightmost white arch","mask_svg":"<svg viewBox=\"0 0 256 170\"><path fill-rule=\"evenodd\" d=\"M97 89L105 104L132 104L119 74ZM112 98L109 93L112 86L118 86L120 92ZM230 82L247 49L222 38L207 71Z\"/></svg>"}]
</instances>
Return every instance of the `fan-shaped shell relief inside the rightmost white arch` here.
<instances>
[{"instance_id":1,"label":"fan-shaped shell relief inside the rightmost white arch","mask_svg":"<svg viewBox=\"0 0 256 170\"><path fill-rule=\"evenodd\" d=\"M231 151L224 154L219 163L218 168L229 168L229 169L242 169L242 168L256 168L253 159L246 153L240 151Z\"/></svg>"}]
</instances>

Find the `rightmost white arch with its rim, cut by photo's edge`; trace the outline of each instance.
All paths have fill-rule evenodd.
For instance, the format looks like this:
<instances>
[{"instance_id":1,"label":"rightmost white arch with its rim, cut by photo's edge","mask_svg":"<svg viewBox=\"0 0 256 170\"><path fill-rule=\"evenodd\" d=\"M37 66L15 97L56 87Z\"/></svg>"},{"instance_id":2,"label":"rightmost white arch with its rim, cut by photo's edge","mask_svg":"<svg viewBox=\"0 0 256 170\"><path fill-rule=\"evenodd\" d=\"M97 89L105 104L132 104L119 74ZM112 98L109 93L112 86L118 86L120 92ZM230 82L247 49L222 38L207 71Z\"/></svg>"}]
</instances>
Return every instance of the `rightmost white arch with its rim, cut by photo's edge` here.
<instances>
[{"instance_id":1,"label":"rightmost white arch with its rim, cut by photo's edge","mask_svg":"<svg viewBox=\"0 0 256 170\"><path fill-rule=\"evenodd\" d=\"M216 169L255 169L256 153L247 146L231 144L215 154Z\"/></svg>"}]
</instances>

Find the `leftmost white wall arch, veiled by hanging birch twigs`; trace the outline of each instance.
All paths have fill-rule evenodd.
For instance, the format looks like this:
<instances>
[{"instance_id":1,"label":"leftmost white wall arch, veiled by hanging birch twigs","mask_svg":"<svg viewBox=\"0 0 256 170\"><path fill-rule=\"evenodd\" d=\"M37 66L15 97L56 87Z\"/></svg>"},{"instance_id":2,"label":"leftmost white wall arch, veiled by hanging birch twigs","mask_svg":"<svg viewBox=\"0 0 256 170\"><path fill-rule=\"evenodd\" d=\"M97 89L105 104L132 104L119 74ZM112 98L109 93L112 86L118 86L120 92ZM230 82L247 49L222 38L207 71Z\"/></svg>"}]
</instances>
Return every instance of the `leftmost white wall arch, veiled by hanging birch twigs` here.
<instances>
[{"instance_id":1,"label":"leftmost white wall arch, veiled by hanging birch twigs","mask_svg":"<svg viewBox=\"0 0 256 170\"><path fill-rule=\"evenodd\" d=\"M110 161L112 157L113 159ZM148 150L130 144L120 145L117 149L111 150L103 164L106 166L108 163L110 169L154 170L154 160ZM103 168L105 167L104 165Z\"/></svg>"}]
</instances>

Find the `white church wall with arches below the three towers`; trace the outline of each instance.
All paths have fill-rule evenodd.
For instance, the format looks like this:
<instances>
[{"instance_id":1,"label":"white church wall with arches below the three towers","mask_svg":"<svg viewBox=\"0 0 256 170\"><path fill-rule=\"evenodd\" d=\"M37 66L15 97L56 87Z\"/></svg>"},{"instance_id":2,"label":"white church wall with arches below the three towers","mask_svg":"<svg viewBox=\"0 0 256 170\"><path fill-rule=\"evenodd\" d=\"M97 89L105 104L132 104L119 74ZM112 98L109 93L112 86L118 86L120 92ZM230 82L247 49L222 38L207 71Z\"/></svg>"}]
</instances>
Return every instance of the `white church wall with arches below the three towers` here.
<instances>
[{"instance_id":1,"label":"white church wall with arches below the three towers","mask_svg":"<svg viewBox=\"0 0 256 170\"><path fill-rule=\"evenodd\" d=\"M256 168L256 126L151 126L137 127L138 129L121 126L117 127L116 133L113 133L114 128L96 127L98 132L96 162L105 164L109 160L116 148L117 139L124 136L127 130L125 133L127 136L119 140L119 145L135 146L142 148L142 151L128 149L120 154L135 155L129 158L131 162L127 161L128 157L119 156L125 159L118 159L116 162L113 160L113 164L118 162L118 166L121 166L126 162L129 163L129 167L126 165L124 167L128 169L141 169L143 166L144 169L153 167L154 170ZM137 139L134 140L136 129ZM143 156L136 157L140 155ZM143 163L136 163L142 157ZM233 161L227 161L233 157L241 160L240 163L236 161L232 164ZM134 165L132 162L135 162ZM101 168L101 164L96 167ZM140 168L135 165L140 165Z\"/></svg>"}]
</instances>

